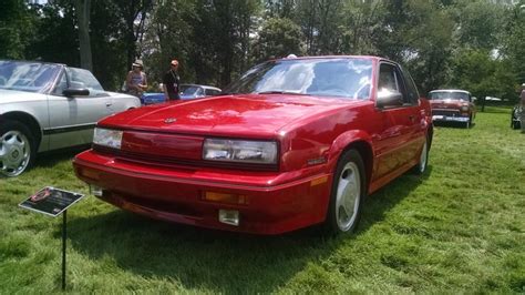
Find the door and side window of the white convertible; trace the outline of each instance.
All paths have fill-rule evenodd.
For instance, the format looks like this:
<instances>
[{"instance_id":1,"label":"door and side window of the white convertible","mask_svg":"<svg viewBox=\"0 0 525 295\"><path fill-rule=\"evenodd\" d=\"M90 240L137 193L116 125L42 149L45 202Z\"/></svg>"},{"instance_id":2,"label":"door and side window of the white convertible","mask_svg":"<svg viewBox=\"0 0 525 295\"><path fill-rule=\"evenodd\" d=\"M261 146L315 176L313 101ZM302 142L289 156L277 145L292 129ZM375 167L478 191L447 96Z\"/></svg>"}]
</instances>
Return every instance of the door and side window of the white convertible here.
<instances>
[{"instance_id":1,"label":"door and side window of the white convertible","mask_svg":"<svg viewBox=\"0 0 525 295\"><path fill-rule=\"evenodd\" d=\"M65 96L68 88L87 89L89 95ZM112 104L99 81L83 69L65 68L48 96L50 150L89 144L96 122L110 114Z\"/></svg>"}]
</instances>

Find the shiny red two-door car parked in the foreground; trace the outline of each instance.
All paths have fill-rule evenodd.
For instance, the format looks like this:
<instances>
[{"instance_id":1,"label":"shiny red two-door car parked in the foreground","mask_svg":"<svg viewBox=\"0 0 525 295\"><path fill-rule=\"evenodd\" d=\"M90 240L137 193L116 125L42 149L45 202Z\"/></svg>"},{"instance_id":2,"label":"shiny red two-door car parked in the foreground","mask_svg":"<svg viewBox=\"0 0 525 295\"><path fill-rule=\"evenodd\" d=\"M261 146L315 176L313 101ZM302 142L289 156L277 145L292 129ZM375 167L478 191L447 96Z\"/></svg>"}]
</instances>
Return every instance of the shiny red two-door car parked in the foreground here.
<instances>
[{"instance_id":1,"label":"shiny red two-door car parked in the foreground","mask_svg":"<svg viewBox=\"0 0 525 295\"><path fill-rule=\"evenodd\" d=\"M220 96L99 122L73 161L94 194L177 223L279 234L352 232L363 197L413 169L432 142L430 104L375 57L281 59Z\"/></svg>"}]
</instances>

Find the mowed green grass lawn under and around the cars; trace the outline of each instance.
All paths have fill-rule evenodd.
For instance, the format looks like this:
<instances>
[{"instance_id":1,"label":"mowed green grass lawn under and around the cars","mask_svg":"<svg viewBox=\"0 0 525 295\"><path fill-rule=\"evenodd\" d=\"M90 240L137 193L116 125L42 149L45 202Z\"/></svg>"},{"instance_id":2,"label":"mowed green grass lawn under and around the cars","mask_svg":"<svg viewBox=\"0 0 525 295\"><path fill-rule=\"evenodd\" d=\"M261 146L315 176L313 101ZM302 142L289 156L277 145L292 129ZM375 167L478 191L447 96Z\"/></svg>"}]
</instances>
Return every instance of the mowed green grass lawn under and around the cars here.
<instances>
[{"instance_id":1,"label":"mowed green grass lawn under and around the cars","mask_svg":"<svg viewBox=\"0 0 525 295\"><path fill-rule=\"evenodd\" d=\"M364 202L356 234L264 237L152 221L87 196L68 212L71 293L524 293L525 134L509 109L436 126L428 172ZM74 153L0 179L0 293L59 292L61 222L18 207L45 185L87 194Z\"/></svg>"}]
</instances>

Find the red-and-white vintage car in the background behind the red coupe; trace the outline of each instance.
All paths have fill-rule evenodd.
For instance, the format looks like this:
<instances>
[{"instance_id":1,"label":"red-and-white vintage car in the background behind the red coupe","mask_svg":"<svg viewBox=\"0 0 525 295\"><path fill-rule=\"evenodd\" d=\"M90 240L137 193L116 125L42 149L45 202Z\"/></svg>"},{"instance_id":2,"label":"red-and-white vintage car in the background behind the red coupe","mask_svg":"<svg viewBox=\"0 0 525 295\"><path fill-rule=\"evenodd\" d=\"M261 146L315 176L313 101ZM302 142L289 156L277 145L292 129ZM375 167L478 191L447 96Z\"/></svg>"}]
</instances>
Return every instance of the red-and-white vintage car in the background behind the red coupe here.
<instances>
[{"instance_id":1,"label":"red-and-white vintage car in the background behind the red coupe","mask_svg":"<svg viewBox=\"0 0 525 295\"><path fill-rule=\"evenodd\" d=\"M434 122L460 122L471 128L476 115L474 99L465 90L432 90L429 92Z\"/></svg>"}]
</instances>

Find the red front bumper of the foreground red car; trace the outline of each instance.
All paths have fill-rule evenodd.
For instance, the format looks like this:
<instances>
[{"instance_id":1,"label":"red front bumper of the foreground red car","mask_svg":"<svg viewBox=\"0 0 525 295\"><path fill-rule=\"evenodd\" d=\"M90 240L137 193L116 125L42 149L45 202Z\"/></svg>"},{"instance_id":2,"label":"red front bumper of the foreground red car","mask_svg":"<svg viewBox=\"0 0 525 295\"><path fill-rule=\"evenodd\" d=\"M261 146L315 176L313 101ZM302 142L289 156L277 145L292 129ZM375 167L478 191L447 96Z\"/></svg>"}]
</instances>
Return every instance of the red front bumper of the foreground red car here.
<instances>
[{"instance_id":1,"label":"red front bumper of the foreground red car","mask_svg":"<svg viewBox=\"0 0 525 295\"><path fill-rule=\"evenodd\" d=\"M103 190L101 200L123 210L176 223L255 234L280 234L320 223L331 174L154 166L86 151L75 174ZM317 169L319 170L319 169ZM205 192L241 195L244 204L203 199ZM238 211L238 226L219 222L219 210Z\"/></svg>"}]
</instances>

